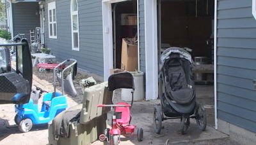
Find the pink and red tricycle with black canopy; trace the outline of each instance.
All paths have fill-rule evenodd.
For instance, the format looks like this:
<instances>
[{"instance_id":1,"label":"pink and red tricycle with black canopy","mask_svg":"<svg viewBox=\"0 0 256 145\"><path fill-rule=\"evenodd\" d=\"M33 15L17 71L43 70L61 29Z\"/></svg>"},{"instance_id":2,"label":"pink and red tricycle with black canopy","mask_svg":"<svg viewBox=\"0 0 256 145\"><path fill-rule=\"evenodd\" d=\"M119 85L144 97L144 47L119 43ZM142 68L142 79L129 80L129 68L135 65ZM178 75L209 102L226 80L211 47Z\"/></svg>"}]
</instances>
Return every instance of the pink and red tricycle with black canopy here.
<instances>
[{"instance_id":1,"label":"pink and red tricycle with black canopy","mask_svg":"<svg viewBox=\"0 0 256 145\"><path fill-rule=\"evenodd\" d=\"M129 72L121 72L109 76L108 79L109 91L113 92L117 88L132 88L132 102L127 104L126 102L118 102L115 105L112 104L99 104L97 107L115 107L115 112L112 116L112 128L106 128L104 134L99 136L100 141L107 139L111 145L117 145L120 140L120 135L133 134L136 129L136 125L131 125L131 107L133 103L134 83L133 76ZM138 141L143 140L143 129L137 128Z\"/></svg>"}]
</instances>

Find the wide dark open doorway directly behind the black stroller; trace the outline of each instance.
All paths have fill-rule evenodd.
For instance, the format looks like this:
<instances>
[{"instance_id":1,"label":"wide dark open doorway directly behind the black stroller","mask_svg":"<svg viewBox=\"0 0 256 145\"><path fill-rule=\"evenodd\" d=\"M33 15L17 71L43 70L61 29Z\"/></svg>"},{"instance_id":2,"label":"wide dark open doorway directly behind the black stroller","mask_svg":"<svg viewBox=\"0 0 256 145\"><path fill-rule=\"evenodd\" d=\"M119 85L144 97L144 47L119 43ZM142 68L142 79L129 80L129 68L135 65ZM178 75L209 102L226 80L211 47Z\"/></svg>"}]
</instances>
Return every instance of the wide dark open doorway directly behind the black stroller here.
<instances>
[{"instance_id":1,"label":"wide dark open doorway directly behind the black stroller","mask_svg":"<svg viewBox=\"0 0 256 145\"><path fill-rule=\"evenodd\" d=\"M196 99L214 126L214 0L157 0L157 56L186 48L195 62Z\"/></svg>"}]
</instances>

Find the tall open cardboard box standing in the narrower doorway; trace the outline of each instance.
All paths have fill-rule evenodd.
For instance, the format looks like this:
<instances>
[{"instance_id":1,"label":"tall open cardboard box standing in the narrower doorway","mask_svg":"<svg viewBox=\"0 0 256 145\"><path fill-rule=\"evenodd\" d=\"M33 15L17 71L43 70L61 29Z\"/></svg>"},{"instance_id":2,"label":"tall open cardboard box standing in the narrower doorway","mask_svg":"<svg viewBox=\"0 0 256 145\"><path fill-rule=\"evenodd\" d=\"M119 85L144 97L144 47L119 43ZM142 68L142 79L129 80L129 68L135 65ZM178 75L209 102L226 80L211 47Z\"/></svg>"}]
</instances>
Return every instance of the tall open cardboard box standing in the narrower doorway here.
<instances>
[{"instance_id":1,"label":"tall open cardboard box standing in the narrower doorway","mask_svg":"<svg viewBox=\"0 0 256 145\"><path fill-rule=\"evenodd\" d=\"M138 71L138 45L127 44L122 40L121 69Z\"/></svg>"}]
</instances>

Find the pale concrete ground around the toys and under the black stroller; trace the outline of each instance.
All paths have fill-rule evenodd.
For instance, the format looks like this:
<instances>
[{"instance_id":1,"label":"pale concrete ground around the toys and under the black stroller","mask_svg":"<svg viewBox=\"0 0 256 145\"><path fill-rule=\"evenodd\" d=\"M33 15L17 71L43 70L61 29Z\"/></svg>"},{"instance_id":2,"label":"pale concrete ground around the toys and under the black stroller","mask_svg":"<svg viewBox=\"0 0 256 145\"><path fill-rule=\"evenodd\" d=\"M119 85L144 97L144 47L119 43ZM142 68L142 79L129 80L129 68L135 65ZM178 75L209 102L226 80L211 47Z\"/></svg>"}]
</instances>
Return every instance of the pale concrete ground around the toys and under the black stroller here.
<instances>
[{"instance_id":1,"label":"pale concrete ground around the toys and under the black stroller","mask_svg":"<svg viewBox=\"0 0 256 145\"><path fill-rule=\"evenodd\" d=\"M75 106L83 101L83 92L81 86L79 86L79 80L83 78L88 78L88 76L77 74L74 85L78 95L77 97L67 98L68 107ZM37 85L44 88L44 90L52 92L54 90L52 83L52 72L38 72L34 70L33 85ZM59 86L57 90L60 91ZM120 91L116 92L116 96L120 96ZM191 121L188 134L180 135L179 120L168 120L163 122L164 128L161 134L157 135L154 133L152 113L153 106L159 104L159 100L134 102L131 111L131 123L143 127L144 139L143 142L138 142L136 136L123 137L122 144L194 144L195 141L201 140L200 144L232 144L227 139L227 135L221 134L212 128L214 126L213 86L197 85L196 97L200 102L204 103L207 110L209 127L207 127L205 132L200 131L198 127L196 127L195 121ZM118 100L119 99L115 99L115 101ZM15 111L13 104L0 105L0 144L48 144L47 125L36 125L30 132L20 133L19 128L14 123L14 116ZM108 116L110 119L111 113L109 113ZM93 144L102 144L102 142L96 141Z\"/></svg>"}]
</instances>

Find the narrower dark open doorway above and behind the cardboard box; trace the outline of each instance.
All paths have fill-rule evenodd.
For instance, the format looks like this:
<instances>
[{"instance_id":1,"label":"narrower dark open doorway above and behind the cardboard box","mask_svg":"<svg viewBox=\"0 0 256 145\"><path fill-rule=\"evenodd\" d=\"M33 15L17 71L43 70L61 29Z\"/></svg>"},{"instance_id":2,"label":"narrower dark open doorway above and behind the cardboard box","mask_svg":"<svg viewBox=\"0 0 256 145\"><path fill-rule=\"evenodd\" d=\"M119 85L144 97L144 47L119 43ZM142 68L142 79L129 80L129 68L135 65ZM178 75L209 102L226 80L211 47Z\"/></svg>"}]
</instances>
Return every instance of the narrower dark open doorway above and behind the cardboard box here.
<instances>
[{"instance_id":1,"label":"narrower dark open doorway above and behind the cardboard box","mask_svg":"<svg viewBox=\"0 0 256 145\"><path fill-rule=\"evenodd\" d=\"M113 68L120 69L122 67L122 39L130 38L132 40L134 38L134 41L136 41L138 32L137 0L112 3L111 8L113 20ZM138 50L136 51L138 52Z\"/></svg>"}]
</instances>

